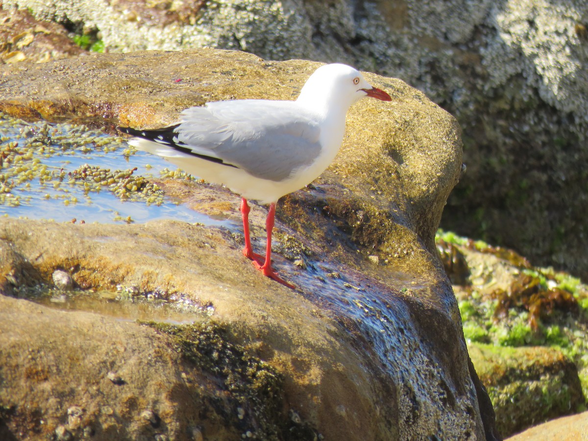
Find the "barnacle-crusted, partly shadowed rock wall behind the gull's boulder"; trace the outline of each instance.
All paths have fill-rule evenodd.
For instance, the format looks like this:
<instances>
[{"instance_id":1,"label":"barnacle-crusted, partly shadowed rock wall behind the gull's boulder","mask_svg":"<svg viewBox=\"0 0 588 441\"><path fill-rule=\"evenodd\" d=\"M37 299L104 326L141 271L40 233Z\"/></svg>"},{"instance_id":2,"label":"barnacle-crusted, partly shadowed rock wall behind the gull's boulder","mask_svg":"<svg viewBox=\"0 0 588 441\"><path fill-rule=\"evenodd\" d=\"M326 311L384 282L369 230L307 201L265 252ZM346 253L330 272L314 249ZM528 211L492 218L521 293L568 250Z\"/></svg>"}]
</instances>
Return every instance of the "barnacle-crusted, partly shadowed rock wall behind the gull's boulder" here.
<instances>
[{"instance_id":1,"label":"barnacle-crusted, partly shadowed rock wall behind the gull's boulder","mask_svg":"<svg viewBox=\"0 0 588 441\"><path fill-rule=\"evenodd\" d=\"M6 0L108 50L241 49L402 78L455 114L468 172L446 228L588 274L588 6L582 0ZM75 26L74 26L75 27Z\"/></svg>"}]
</instances>

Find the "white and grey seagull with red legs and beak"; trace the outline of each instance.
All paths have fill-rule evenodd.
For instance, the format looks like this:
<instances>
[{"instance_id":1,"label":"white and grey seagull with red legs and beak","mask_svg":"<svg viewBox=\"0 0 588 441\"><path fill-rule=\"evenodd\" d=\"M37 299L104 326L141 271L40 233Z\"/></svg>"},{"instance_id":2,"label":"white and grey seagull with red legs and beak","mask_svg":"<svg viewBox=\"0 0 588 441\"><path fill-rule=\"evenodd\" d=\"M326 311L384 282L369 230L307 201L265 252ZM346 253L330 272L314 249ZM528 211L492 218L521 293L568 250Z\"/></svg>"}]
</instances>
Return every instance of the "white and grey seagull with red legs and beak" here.
<instances>
[{"instance_id":1,"label":"white and grey seagull with red legs and beak","mask_svg":"<svg viewBox=\"0 0 588 441\"><path fill-rule=\"evenodd\" d=\"M350 106L390 95L344 64L320 66L295 101L236 99L186 109L179 123L155 130L119 127L129 144L162 156L191 175L241 196L243 255L263 275L295 288L272 269L272 229L278 199L314 181L335 158ZM269 204L265 258L253 252L249 203Z\"/></svg>"}]
</instances>

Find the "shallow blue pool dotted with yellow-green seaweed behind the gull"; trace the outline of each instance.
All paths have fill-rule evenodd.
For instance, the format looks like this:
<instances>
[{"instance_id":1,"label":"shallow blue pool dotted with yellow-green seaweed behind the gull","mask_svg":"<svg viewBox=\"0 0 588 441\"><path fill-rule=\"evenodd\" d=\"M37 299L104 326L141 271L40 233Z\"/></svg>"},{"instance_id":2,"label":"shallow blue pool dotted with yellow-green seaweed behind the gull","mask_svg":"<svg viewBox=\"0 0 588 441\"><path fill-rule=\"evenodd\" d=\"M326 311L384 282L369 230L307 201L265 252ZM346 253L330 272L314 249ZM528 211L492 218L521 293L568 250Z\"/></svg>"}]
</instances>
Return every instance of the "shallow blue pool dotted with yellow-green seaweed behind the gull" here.
<instances>
[{"instance_id":1,"label":"shallow blue pool dotted with yellow-green seaweed behind the gull","mask_svg":"<svg viewBox=\"0 0 588 441\"><path fill-rule=\"evenodd\" d=\"M158 156L129 148L119 136L85 126L26 123L1 113L0 133L0 216L86 223L157 219L227 223L195 212L161 191L133 191L133 182L125 198L114 191L121 183L101 185L91 177L82 182L79 171L84 165L103 172L126 171L123 174L132 179L145 178L142 184L169 175L194 179Z\"/></svg>"}]
</instances>

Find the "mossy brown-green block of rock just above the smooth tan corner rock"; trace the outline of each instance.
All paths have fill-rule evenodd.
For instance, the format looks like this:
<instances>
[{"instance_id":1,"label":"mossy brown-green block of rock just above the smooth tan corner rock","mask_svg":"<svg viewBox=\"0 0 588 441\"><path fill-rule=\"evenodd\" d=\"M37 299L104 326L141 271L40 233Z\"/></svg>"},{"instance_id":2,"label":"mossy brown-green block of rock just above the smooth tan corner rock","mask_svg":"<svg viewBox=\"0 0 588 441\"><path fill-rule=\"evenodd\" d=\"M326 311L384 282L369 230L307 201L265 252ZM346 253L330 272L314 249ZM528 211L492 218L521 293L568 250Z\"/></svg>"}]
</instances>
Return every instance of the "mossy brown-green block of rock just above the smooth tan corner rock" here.
<instances>
[{"instance_id":1,"label":"mossy brown-green block of rock just above the smooth tan corner rock","mask_svg":"<svg viewBox=\"0 0 588 441\"><path fill-rule=\"evenodd\" d=\"M471 343L470 358L496 410L504 436L584 405L576 366L559 350Z\"/></svg>"}]
</instances>

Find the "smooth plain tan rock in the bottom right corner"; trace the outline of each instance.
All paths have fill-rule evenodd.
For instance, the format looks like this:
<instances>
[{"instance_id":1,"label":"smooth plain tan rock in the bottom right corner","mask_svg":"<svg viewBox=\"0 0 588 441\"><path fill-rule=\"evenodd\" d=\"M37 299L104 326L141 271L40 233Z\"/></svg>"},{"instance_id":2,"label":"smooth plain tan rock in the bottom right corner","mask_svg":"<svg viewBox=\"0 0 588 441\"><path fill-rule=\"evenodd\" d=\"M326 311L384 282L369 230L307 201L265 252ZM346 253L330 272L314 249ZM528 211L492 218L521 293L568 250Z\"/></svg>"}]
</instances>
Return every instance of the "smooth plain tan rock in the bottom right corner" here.
<instances>
[{"instance_id":1,"label":"smooth plain tan rock in the bottom right corner","mask_svg":"<svg viewBox=\"0 0 588 441\"><path fill-rule=\"evenodd\" d=\"M510 437L507 441L577 441L588 439L588 412L549 421Z\"/></svg>"}]
</instances>

